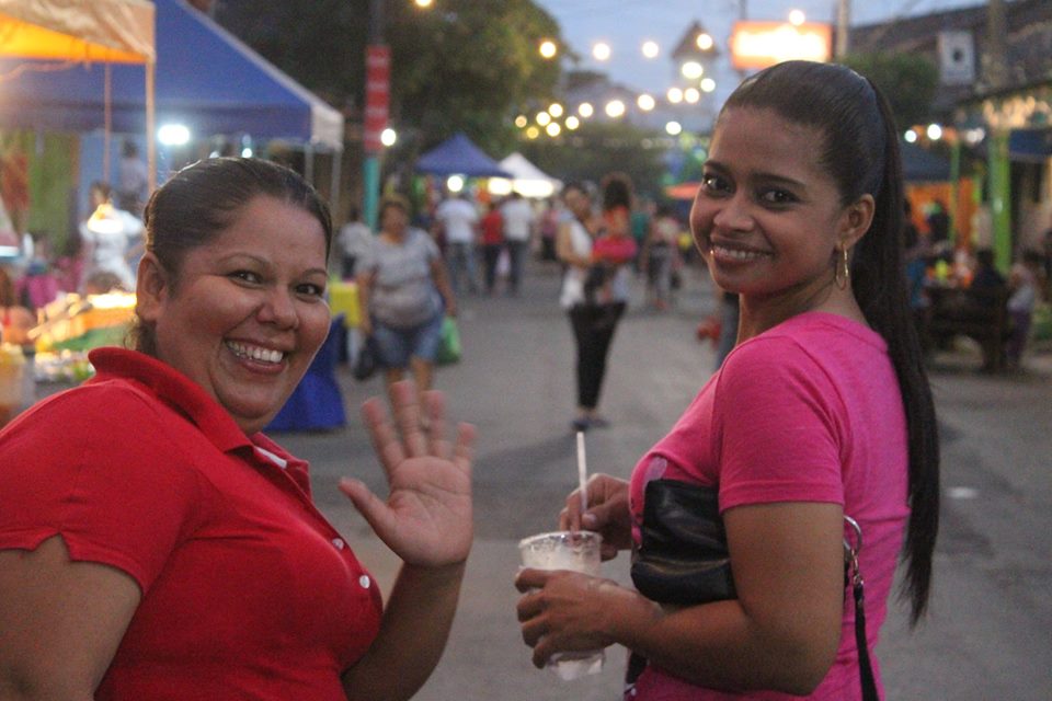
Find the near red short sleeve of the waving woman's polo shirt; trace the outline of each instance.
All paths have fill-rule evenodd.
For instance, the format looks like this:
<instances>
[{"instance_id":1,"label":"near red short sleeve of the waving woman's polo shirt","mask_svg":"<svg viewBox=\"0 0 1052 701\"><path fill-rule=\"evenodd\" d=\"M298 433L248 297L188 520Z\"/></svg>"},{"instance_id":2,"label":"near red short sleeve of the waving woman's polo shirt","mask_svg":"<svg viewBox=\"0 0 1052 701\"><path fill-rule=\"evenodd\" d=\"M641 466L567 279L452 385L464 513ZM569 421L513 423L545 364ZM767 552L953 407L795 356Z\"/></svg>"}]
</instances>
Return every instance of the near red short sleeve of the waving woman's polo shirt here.
<instances>
[{"instance_id":1,"label":"near red short sleeve of the waving woman's polo shirt","mask_svg":"<svg viewBox=\"0 0 1052 701\"><path fill-rule=\"evenodd\" d=\"M75 561L117 567L149 589L201 505L197 471L165 423L127 387L47 400L0 435L0 549L60 535Z\"/></svg>"}]
</instances>

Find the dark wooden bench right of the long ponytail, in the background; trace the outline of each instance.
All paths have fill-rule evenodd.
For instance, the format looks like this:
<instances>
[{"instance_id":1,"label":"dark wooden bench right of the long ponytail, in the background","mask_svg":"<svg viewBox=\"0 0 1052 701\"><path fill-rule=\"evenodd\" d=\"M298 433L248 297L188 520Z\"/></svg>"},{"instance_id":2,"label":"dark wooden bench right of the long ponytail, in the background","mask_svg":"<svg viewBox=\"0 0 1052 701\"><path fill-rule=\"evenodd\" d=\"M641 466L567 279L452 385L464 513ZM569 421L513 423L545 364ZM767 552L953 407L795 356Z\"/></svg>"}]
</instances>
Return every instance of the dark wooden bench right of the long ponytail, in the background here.
<instances>
[{"instance_id":1,"label":"dark wooden bench right of the long ponytail, in the background","mask_svg":"<svg viewBox=\"0 0 1052 701\"><path fill-rule=\"evenodd\" d=\"M984 370L1005 369L1005 342L1011 334L1007 288L930 287L925 292L930 304L923 315L921 335L928 347L968 336L982 348Z\"/></svg>"}]
</instances>

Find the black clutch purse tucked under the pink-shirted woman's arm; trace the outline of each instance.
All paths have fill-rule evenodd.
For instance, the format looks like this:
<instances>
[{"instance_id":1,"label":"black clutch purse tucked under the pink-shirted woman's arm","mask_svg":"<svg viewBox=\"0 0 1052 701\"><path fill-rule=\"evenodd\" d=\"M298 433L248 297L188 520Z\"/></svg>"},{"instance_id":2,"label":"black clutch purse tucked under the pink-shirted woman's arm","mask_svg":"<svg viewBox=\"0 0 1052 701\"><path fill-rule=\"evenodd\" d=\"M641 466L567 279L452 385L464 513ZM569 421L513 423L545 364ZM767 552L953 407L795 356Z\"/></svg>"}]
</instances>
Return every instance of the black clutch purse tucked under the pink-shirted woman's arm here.
<instances>
[{"instance_id":1,"label":"black clutch purse tucked under the pink-shirted woman's arm","mask_svg":"<svg viewBox=\"0 0 1052 701\"><path fill-rule=\"evenodd\" d=\"M632 583L660 604L736 598L716 489L677 480L647 483Z\"/></svg>"}]
</instances>

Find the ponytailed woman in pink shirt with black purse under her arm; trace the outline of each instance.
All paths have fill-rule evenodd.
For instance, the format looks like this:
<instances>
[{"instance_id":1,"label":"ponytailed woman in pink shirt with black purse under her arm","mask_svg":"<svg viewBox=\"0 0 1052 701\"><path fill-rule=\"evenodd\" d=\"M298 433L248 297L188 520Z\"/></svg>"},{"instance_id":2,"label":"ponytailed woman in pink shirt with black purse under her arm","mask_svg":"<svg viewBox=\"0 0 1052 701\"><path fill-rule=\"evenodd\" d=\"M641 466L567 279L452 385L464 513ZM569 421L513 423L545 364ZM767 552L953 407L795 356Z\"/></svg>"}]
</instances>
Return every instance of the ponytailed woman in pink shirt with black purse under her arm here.
<instances>
[{"instance_id":1,"label":"ponytailed woman in pink shirt with black purse under her arm","mask_svg":"<svg viewBox=\"0 0 1052 701\"><path fill-rule=\"evenodd\" d=\"M879 698L869 651L903 540L902 594L914 623L925 611L939 489L887 102L841 66L747 79L717 120L690 227L740 295L737 345L630 481L593 478L583 513L567 501L563 527L602 532L608 558L633 550L638 590L524 570L524 640L538 666L627 646L639 701Z\"/></svg>"}]
</instances>

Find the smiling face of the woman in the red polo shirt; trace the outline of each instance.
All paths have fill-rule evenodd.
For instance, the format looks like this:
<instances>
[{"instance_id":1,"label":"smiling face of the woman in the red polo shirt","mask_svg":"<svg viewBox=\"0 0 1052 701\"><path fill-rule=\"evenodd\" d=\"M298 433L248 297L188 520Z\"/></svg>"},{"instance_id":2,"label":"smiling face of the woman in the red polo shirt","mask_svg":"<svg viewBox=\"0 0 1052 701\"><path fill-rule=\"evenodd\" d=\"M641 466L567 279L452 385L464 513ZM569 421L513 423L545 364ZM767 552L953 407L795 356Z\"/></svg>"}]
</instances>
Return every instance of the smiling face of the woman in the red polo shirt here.
<instances>
[{"instance_id":1,"label":"smiling face of the woman in the red polo shirt","mask_svg":"<svg viewBox=\"0 0 1052 701\"><path fill-rule=\"evenodd\" d=\"M278 412L325 340L325 281L318 219L260 195L187 251L176 276L147 254L137 312L156 327L158 358L251 435Z\"/></svg>"}]
</instances>

